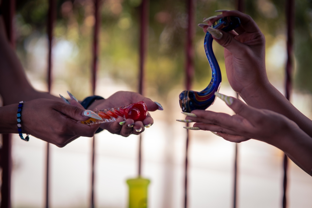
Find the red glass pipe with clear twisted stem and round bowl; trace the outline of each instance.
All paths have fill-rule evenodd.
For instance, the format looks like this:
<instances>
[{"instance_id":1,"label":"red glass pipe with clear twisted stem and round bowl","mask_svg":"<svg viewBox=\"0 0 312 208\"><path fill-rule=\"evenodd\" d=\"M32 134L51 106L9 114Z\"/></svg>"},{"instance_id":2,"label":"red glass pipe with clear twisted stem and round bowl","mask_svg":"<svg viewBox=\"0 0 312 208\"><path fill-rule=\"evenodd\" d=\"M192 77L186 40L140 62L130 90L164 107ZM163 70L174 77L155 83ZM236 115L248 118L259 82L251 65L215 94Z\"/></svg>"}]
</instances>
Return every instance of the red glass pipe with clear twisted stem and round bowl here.
<instances>
[{"instance_id":1,"label":"red glass pipe with clear twisted stem and round bowl","mask_svg":"<svg viewBox=\"0 0 312 208\"><path fill-rule=\"evenodd\" d=\"M143 121L147 116L147 106L143 101L140 101L127 106L96 110L94 112L98 114L103 120L101 121L90 118L86 121L81 121L81 123L90 125L95 123L113 122L118 117L123 117L124 119L133 119L134 121Z\"/></svg>"}]
</instances>

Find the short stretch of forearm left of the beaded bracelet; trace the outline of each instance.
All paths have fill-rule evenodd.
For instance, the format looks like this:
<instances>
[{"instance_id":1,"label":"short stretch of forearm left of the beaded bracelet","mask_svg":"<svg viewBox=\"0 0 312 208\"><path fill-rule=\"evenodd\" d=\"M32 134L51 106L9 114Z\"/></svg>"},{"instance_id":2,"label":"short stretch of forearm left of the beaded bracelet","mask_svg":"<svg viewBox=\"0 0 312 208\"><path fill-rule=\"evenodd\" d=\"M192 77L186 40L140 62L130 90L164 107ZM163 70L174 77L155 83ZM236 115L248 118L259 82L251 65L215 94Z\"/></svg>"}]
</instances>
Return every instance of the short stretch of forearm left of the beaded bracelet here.
<instances>
[{"instance_id":1,"label":"short stretch of forearm left of the beaded bracelet","mask_svg":"<svg viewBox=\"0 0 312 208\"><path fill-rule=\"evenodd\" d=\"M18 104L0 107L0 133L17 133Z\"/></svg>"}]
</instances>

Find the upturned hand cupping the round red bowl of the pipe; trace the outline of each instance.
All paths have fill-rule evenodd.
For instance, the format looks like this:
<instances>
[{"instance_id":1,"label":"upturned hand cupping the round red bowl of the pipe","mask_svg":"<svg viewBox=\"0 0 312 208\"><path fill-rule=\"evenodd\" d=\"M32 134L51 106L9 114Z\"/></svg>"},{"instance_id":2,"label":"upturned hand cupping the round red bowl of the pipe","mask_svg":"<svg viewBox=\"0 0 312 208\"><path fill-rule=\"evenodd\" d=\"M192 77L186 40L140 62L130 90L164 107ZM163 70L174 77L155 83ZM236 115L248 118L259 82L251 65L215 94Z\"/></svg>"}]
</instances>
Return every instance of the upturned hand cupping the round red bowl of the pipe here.
<instances>
[{"instance_id":1,"label":"upturned hand cupping the round red bowl of the pipe","mask_svg":"<svg viewBox=\"0 0 312 208\"><path fill-rule=\"evenodd\" d=\"M149 111L155 111L157 109L163 110L158 104L153 102L149 98L143 97L139 93L135 92L126 92L119 91L115 94L111 95L109 98L105 100L96 100L88 109L90 110L101 110L107 108L114 108L129 105L132 103L137 103L139 101L144 101L147 105ZM124 122L124 123L120 123ZM132 119L124 120L119 117L115 122L102 123L100 128L107 129L110 133L119 134L124 137L128 137L130 134L140 134L144 131L144 128L149 128L153 125L154 120L147 114L146 119L144 121L136 121Z\"/></svg>"}]
</instances>

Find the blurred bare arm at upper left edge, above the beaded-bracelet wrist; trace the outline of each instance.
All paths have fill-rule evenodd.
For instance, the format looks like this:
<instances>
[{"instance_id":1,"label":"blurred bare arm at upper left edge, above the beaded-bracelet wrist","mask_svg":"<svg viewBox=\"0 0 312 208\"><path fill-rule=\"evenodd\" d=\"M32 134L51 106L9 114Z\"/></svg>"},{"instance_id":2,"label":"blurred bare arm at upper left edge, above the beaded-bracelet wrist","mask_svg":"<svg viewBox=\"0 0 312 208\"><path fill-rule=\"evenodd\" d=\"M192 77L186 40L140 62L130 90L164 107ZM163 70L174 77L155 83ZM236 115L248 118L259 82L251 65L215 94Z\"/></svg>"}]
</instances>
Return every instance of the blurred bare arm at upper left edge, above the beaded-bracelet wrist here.
<instances>
[{"instance_id":1,"label":"blurred bare arm at upper left edge, above the beaded-bracelet wrist","mask_svg":"<svg viewBox=\"0 0 312 208\"><path fill-rule=\"evenodd\" d=\"M37 98L61 100L46 92L38 92L29 84L23 67L7 40L2 16L0 16L0 94L4 105Z\"/></svg>"}]
</instances>

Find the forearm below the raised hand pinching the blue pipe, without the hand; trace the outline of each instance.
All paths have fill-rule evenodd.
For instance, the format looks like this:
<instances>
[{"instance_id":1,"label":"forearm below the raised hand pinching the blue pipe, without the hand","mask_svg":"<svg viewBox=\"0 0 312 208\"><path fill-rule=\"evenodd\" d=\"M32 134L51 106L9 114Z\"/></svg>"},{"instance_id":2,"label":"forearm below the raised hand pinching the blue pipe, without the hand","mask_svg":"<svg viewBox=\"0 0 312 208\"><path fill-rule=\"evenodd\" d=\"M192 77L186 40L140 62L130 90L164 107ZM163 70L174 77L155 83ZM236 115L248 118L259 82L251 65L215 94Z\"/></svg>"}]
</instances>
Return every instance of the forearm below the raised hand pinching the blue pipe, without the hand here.
<instances>
[{"instance_id":1,"label":"forearm below the raised hand pinching the blue pipe, without the hand","mask_svg":"<svg viewBox=\"0 0 312 208\"><path fill-rule=\"evenodd\" d=\"M250 93L252 92L252 93ZM243 90L241 98L250 106L258 109L268 109L285 115L310 137L312 137L312 121L295 108L283 94L269 82L254 90Z\"/></svg>"}]
</instances>

